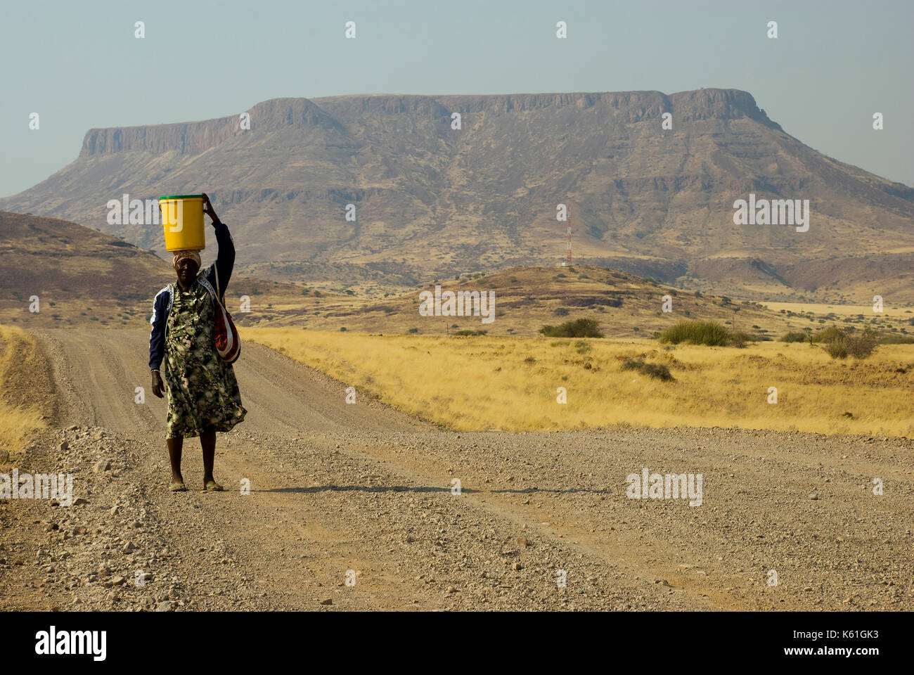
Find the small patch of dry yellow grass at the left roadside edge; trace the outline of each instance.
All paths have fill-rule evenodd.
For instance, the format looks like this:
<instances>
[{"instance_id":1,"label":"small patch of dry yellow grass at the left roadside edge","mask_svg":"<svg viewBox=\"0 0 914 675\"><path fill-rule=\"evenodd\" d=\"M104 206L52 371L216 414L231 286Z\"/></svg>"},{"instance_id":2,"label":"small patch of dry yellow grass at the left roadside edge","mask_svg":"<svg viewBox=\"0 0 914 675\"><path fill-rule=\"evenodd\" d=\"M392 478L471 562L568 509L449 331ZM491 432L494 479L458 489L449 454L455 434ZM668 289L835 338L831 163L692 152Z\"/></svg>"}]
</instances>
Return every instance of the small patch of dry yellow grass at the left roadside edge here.
<instances>
[{"instance_id":1,"label":"small patch of dry yellow grass at the left roadside edge","mask_svg":"<svg viewBox=\"0 0 914 675\"><path fill-rule=\"evenodd\" d=\"M22 328L0 326L0 453L16 455L27 445L37 429L47 426L35 406L15 405L10 401L11 375L34 355L35 338ZM0 460L2 461L2 460Z\"/></svg>"}]
</instances>

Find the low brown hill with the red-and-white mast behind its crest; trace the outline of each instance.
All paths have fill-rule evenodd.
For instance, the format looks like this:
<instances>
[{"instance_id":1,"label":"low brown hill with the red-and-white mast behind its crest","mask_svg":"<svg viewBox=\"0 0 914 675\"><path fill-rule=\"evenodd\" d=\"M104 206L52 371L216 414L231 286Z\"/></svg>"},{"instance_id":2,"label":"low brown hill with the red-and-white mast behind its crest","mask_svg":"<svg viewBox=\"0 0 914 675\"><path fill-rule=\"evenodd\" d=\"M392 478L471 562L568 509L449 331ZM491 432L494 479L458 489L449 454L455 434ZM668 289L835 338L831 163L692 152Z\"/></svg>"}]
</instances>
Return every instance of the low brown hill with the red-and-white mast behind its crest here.
<instances>
[{"instance_id":1,"label":"low brown hill with the red-and-white mast behind its crest","mask_svg":"<svg viewBox=\"0 0 914 675\"><path fill-rule=\"evenodd\" d=\"M494 319L482 316L422 316L420 294L494 293ZM662 311L664 295L672 312ZM749 301L703 295L664 286L632 274L592 265L515 267L497 273L462 275L420 284L404 295L381 299L307 292L299 301L277 304L262 316L246 317L250 325L355 330L377 333L454 335L485 331L488 335L536 336L544 325L591 318L607 338L651 338L683 319L703 319L761 337L780 338L788 330L819 327L812 317L787 316Z\"/></svg>"}]
</instances>

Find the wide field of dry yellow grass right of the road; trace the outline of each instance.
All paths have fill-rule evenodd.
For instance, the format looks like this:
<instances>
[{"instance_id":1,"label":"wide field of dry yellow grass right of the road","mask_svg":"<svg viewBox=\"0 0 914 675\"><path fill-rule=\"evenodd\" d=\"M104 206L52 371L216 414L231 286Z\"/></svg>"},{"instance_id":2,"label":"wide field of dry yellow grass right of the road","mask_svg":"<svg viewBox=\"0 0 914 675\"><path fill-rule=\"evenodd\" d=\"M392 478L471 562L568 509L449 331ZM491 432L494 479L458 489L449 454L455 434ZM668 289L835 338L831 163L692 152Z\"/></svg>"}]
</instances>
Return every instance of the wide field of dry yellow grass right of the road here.
<instances>
[{"instance_id":1,"label":"wide field of dry yellow grass right of the road","mask_svg":"<svg viewBox=\"0 0 914 675\"><path fill-rule=\"evenodd\" d=\"M882 346L866 361L835 361L821 348L781 342L667 350L648 339L370 336L252 327L241 338L455 429L631 424L914 435L911 345ZM623 359L642 355L668 365L675 381L621 369ZM557 402L559 387L567 390L566 404ZM769 387L777 388L777 403L768 402Z\"/></svg>"}]
</instances>

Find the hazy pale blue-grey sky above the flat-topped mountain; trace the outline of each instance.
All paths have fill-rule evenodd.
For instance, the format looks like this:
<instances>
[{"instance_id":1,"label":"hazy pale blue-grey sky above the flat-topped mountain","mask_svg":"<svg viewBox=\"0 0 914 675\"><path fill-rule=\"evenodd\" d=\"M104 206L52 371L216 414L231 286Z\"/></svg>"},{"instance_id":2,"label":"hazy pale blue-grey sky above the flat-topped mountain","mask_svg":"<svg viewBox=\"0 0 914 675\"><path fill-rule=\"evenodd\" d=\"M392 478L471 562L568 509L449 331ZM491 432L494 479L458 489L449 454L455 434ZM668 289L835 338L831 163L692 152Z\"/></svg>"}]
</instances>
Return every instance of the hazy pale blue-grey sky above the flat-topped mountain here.
<instances>
[{"instance_id":1,"label":"hazy pale blue-grey sky above the flat-topped mountain","mask_svg":"<svg viewBox=\"0 0 914 675\"><path fill-rule=\"evenodd\" d=\"M10 2L0 196L72 162L92 127L205 120L277 97L699 87L749 91L805 144L914 185L912 17L910 0Z\"/></svg>"}]
</instances>

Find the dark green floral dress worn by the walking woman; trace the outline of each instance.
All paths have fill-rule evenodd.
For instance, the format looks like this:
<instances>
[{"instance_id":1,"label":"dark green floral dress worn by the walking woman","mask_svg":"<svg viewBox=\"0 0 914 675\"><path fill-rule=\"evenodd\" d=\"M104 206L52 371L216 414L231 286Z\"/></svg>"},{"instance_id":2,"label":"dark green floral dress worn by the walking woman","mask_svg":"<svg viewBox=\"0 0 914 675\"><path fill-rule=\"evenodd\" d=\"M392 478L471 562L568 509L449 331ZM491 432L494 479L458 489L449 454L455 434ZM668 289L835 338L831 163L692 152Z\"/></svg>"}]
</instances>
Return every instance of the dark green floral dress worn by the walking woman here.
<instances>
[{"instance_id":1,"label":"dark green floral dress worn by the walking woman","mask_svg":"<svg viewBox=\"0 0 914 675\"><path fill-rule=\"evenodd\" d=\"M235 371L216 351L214 319L212 296L199 280L189 291L175 284L165 329L167 438L198 436L207 427L228 432L248 412Z\"/></svg>"}]
</instances>

